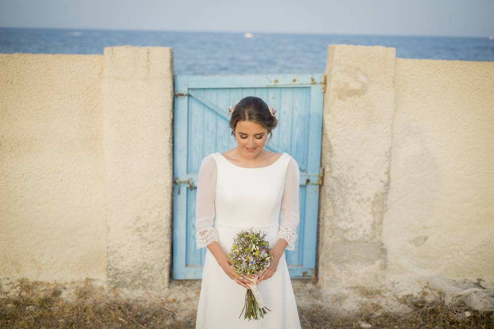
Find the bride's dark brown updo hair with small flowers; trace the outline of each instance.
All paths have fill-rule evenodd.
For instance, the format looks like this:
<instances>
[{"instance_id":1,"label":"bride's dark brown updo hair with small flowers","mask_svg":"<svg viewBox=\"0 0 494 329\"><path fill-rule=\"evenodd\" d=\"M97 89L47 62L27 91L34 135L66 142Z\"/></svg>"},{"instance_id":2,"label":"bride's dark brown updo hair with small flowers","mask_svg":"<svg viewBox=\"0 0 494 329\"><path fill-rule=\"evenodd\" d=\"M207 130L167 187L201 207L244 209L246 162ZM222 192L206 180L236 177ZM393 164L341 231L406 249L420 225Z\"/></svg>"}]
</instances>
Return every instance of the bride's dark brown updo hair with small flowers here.
<instances>
[{"instance_id":1,"label":"bride's dark brown updo hair with small flowers","mask_svg":"<svg viewBox=\"0 0 494 329\"><path fill-rule=\"evenodd\" d=\"M271 115L268 104L256 96L244 97L237 103L237 106L235 106L230 122L228 123L232 129L232 136L235 136L235 127L237 126L238 121L252 121L259 123L268 130L270 140L273 136L271 131L278 125L278 119Z\"/></svg>"}]
</instances>

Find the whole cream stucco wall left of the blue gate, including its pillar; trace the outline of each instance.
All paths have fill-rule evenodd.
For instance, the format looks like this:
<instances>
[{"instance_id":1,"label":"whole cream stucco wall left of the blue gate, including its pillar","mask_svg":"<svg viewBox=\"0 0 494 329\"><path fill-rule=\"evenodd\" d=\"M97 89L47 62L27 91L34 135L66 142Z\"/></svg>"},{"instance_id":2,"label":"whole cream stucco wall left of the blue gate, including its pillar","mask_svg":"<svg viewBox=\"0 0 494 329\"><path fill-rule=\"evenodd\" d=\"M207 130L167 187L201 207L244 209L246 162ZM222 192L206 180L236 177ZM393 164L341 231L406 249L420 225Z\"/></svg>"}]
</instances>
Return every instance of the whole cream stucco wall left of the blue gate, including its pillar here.
<instances>
[{"instance_id":1,"label":"whole cream stucco wall left of the blue gate, including its pillar","mask_svg":"<svg viewBox=\"0 0 494 329\"><path fill-rule=\"evenodd\" d=\"M173 55L0 55L0 283L160 290L171 264Z\"/></svg>"}]
</instances>

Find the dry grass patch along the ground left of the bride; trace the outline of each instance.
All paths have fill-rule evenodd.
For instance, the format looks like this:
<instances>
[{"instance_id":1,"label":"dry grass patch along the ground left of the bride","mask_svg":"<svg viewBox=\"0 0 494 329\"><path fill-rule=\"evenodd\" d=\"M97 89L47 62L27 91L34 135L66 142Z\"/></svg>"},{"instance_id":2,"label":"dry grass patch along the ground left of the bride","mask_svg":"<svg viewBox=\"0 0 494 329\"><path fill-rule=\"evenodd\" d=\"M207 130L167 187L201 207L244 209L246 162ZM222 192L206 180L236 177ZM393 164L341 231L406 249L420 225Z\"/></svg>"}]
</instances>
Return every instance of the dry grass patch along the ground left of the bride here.
<instances>
[{"instance_id":1,"label":"dry grass patch along the ground left of the bride","mask_svg":"<svg viewBox=\"0 0 494 329\"><path fill-rule=\"evenodd\" d=\"M191 328L163 302L139 303L105 294L90 280L65 301L58 284L17 282L16 296L0 299L0 328ZM9 305L10 304L10 305ZM13 304L13 306L12 306Z\"/></svg>"}]
</instances>

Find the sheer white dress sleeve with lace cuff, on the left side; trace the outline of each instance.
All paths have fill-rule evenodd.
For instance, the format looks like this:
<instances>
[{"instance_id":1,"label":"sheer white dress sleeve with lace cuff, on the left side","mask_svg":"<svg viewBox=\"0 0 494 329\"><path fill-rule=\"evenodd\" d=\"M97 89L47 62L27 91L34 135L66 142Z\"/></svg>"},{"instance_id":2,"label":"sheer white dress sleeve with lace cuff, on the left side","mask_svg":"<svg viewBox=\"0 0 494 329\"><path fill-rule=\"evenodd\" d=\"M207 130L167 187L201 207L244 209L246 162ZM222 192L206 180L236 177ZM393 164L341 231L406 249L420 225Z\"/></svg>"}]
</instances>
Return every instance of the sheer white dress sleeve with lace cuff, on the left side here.
<instances>
[{"instance_id":1,"label":"sheer white dress sleeve with lace cuff, on the left side","mask_svg":"<svg viewBox=\"0 0 494 329\"><path fill-rule=\"evenodd\" d=\"M201 162L197 178L196 194L196 245L203 248L218 241L218 232L213 226L216 215L216 177L218 171L213 155L206 155Z\"/></svg>"}]
</instances>

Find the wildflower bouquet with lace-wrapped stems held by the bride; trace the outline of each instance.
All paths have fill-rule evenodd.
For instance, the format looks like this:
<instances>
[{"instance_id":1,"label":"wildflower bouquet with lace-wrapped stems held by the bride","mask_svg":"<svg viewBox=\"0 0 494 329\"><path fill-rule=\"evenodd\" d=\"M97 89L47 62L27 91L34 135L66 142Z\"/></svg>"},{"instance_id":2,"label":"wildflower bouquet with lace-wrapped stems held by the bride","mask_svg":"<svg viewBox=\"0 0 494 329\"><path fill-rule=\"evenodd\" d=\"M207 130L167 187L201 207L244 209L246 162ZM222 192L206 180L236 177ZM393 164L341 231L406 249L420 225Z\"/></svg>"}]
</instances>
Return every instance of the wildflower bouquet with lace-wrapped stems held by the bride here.
<instances>
[{"instance_id":1,"label":"wildflower bouquet with lace-wrapped stems held by the bride","mask_svg":"<svg viewBox=\"0 0 494 329\"><path fill-rule=\"evenodd\" d=\"M251 319L259 320L259 317L264 318L264 314L267 314L266 309L271 312L271 309L262 303L257 287L257 279L260 273L271 265L271 260L274 258L274 255L269 252L269 243L264 240L266 235L266 233L261 235L260 232L253 232L252 228L250 231L242 230L234 237L233 246L227 254L228 264L232 266L238 275L256 275L254 279L245 277L254 284L245 293L245 304L242 312L240 312L240 316L242 316L246 307L244 320L248 319L250 321ZM257 273L259 274L257 275Z\"/></svg>"}]
</instances>

